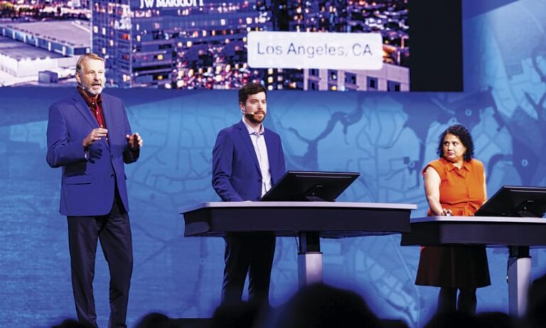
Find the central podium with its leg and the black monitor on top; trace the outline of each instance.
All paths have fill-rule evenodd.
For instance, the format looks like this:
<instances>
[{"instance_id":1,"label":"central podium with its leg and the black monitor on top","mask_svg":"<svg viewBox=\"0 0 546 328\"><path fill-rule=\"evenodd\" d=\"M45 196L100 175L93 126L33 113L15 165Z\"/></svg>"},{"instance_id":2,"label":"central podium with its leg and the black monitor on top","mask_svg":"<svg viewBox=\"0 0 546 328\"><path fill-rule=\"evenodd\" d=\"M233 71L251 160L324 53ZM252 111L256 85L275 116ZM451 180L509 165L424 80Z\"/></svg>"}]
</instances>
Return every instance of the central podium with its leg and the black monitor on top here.
<instances>
[{"instance_id":1,"label":"central podium with its leg and the black monitor on top","mask_svg":"<svg viewBox=\"0 0 546 328\"><path fill-rule=\"evenodd\" d=\"M181 213L185 221L184 236L218 237L228 232L258 231L297 236L299 285L321 282L320 238L410 231L410 213L417 208L415 205L333 201L358 175L289 171L262 201L210 202L186 208ZM282 201L283 194L289 201ZM306 201L300 201L302 199ZM310 201L318 199L321 200Z\"/></svg>"}]
</instances>

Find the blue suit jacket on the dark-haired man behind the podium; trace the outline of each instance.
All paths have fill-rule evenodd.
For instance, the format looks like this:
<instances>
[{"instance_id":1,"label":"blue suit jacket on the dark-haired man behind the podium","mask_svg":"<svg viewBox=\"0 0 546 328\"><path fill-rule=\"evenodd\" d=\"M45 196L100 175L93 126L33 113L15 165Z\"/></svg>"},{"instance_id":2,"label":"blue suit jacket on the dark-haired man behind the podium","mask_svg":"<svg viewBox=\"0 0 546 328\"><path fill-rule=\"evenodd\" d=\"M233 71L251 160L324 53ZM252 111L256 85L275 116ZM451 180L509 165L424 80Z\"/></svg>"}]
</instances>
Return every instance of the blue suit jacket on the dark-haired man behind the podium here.
<instances>
[{"instance_id":1,"label":"blue suit jacket on the dark-haired man behind the podium","mask_svg":"<svg viewBox=\"0 0 546 328\"><path fill-rule=\"evenodd\" d=\"M264 129L271 183L286 166L279 134ZM221 130L213 149L213 188L223 201L257 201L262 196L262 172L247 127L240 121Z\"/></svg>"}]
</instances>

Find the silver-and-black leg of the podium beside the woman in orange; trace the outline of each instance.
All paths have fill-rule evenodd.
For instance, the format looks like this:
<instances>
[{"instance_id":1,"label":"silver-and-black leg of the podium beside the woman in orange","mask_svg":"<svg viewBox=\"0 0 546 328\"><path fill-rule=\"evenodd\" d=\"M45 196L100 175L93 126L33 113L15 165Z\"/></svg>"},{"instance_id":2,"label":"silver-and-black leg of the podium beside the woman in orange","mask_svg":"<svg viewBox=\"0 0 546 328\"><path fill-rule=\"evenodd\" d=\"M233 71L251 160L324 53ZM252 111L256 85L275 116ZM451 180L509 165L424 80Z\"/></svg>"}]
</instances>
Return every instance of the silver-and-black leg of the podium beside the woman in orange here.
<instances>
[{"instance_id":1,"label":"silver-and-black leg of the podium beside the woman in orange","mask_svg":"<svg viewBox=\"0 0 546 328\"><path fill-rule=\"evenodd\" d=\"M531 283L531 257L528 246L509 246L508 307L515 317L523 317L527 309L527 291Z\"/></svg>"}]
</instances>

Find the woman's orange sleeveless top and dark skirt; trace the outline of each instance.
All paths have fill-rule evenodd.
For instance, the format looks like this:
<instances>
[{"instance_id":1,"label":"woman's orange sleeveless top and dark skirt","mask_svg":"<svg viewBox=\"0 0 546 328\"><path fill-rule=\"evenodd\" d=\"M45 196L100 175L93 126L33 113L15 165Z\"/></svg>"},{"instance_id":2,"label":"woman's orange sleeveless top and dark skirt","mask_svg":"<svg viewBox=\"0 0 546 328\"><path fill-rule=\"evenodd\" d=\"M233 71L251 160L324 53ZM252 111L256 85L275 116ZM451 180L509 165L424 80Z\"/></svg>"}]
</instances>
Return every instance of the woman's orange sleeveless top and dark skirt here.
<instances>
[{"instance_id":1,"label":"woman's orange sleeveless top and dark skirt","mask_svg":"<svg viewBox=\"0 0 546 328\"><path fill-rule=\"evenodd\" d=\"M440 203L454 216L473 216L486 195L483 193L483 164L477 159L464 162L461 169L437 159L431 166L440 176ZM431 216L429 209L428 215ZM454 245L421 250L416 285L477 288L491 285L485 246Z\"/></svg>"}]
</instances>

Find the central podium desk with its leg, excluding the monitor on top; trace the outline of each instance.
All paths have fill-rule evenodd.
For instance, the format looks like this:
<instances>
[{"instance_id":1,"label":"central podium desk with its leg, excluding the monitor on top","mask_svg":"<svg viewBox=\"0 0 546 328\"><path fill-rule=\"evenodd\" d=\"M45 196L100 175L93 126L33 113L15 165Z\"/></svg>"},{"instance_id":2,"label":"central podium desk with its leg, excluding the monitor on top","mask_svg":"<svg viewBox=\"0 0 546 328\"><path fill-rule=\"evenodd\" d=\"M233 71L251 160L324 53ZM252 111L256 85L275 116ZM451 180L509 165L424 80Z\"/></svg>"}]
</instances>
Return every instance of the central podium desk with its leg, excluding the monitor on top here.
<instances>
[{"instance_id":1,"label":"central podium desk with its leg, excluding the monitor on top","mask_svg":"<svg viewBox=\"0 0 546 328\"><path fill-rule=\"evenodd\" d=\"M182 211L186 237L273 232L299 238L299 285L322 281L321 238L410 232L417 206L397 203L263 201L200 203Z\"/></svg>"}]
</instances>

